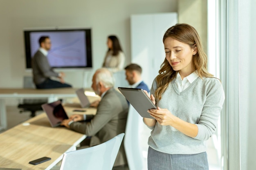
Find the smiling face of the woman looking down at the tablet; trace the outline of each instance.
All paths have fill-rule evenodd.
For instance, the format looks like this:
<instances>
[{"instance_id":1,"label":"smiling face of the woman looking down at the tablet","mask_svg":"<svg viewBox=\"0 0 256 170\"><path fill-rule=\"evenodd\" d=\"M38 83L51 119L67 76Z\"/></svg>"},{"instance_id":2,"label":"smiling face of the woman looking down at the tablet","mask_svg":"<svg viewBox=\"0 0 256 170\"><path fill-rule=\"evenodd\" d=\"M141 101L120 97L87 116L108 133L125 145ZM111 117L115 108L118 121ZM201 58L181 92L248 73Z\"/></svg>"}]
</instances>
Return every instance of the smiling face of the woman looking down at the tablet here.
<instances>
[{"instance_id":1,"label":"smiling face of the woman looking down at the tablet","mask_svg":"<svg viewBox=\"0 0 256 170\"><path fill-rule=\"evenodd\" d=\"M167 37L164 40L164 50L166 60L174 71L179 71L182 78L193 73L192 57L197 53L196 46L193 49L189 44Z\"/></svg>"}]
</instances>

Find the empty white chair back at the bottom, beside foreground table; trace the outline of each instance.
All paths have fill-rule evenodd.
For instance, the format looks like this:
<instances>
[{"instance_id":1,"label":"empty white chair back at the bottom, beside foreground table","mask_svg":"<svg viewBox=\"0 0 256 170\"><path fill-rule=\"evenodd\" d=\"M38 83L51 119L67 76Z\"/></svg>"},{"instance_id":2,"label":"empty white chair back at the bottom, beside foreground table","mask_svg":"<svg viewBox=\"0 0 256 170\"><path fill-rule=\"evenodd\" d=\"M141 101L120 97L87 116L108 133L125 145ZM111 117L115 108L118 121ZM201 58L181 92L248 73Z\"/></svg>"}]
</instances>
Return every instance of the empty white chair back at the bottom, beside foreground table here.
<instances>
[{"instance_id":1,"label":"empty white chair back at the bottom, beside foreground table","mask_svg":"<svg viewBox=\"0 0 256 170\"><path fill-rule=\"evenodd\" d=\"M60 170L112 170L124 133L90 148L64 153Z\"/></svg>"}]
</instances>

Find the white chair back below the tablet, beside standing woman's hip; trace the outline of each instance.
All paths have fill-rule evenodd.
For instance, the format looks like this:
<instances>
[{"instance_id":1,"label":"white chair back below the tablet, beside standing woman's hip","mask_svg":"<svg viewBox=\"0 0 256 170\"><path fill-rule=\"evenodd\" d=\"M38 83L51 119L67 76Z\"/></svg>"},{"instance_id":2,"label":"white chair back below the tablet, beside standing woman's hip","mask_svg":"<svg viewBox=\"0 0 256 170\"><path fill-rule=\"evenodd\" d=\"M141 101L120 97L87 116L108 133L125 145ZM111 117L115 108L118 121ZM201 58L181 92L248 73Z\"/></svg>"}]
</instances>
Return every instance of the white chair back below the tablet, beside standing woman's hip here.
<instances>
[{"instance_id":1,"label":"white chair back below the tablet, beside standing woman's hip","mask_svg":"<svg viewBox=\"0 0 256 170\"><path fill-rule=\"evenodd\" d=\"M124 149L130 170L142 170L144 168L142 148L139 144L139 129L141 129L141 127L139 127L140 124L142 124L142 117L135 110L135 108L130 105L124 137Z\"/></svg>"}]
</instances>

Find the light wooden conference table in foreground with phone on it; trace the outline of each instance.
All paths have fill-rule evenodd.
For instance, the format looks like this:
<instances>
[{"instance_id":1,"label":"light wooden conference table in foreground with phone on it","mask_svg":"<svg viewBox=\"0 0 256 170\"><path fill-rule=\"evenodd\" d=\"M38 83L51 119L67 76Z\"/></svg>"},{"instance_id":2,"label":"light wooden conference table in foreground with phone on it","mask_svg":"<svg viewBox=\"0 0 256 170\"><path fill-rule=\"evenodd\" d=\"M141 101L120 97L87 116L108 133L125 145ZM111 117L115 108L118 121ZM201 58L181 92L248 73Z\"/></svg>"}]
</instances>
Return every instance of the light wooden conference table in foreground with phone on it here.
<instances>
[{"instance_id":1,"label":"light wooden conference table in foreground with phone on it","mask_svg":"<svg viewBox=\"0 0 256 170\"><path fill-rule=\"evenodd\" d=\"M74 107L64 107L71 115ZM80 108L81 109L81 108ZM95 108L86 108L86 114L95 114ZM81 114L81 112L80 112ZM0 168L22 170L50 170L61 161L63 154L76 150L85 135L65 127L52 128L45 113L0 133ZM29 161L50 157L50 161L31 165Z\"/></svg>"}]
</instances>

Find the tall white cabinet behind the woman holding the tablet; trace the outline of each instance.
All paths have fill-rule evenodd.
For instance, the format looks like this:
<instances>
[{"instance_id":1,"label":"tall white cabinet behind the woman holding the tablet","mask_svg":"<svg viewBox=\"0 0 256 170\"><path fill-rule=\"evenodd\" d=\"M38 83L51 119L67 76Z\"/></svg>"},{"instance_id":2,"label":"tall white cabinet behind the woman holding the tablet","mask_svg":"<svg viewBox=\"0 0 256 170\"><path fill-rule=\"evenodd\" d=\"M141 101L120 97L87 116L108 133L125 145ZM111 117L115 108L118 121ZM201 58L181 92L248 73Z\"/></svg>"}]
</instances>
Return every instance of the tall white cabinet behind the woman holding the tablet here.
<instances>
[{"instance_id":1,"label":"tall white cabinet behind the woman holding the tablet","mask_svg":"<svg viewBox=\"0 0 256 170\"><path fill-rule=\"evenodd\" d=\"M142 68L144 82L151 87L164 62L163 36L177 23L177 13L131 15L131 62Z\"/></svg>"}]
</instances>

